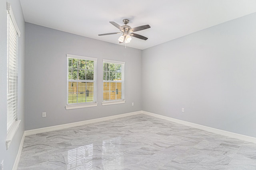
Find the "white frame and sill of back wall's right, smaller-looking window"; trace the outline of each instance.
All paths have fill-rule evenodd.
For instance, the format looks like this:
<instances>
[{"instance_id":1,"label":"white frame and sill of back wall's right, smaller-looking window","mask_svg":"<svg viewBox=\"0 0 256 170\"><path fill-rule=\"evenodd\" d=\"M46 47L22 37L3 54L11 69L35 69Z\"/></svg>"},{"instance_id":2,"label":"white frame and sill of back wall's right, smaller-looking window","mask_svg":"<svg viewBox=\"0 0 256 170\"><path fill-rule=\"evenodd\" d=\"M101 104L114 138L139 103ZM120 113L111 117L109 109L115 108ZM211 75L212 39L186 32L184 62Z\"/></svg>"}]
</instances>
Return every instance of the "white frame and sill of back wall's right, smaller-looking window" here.
<instances>
[{"instance_id":1,"label":"white frame and sill of back wall's right, smaller-looking window","mask_svg":"<svg viewBox=\"0 0 256 170\"><path fill-rule=\"evenodd\" d=\"M116 80L116 81L103 80L103 86L104 86L104 82L122 82L122 90L121 90L122 94L121 94L121 99L118 99L118 100L103 100L103 97L102 97L102 100L103 100L102 106L112 105L112 104L124 104L125 103L125 100L124 100L124 64L125 64L125 62L103 59L103 75L104 75L104 63L121 64L122 65L122 80ZM102 79L104 79L104 76ZM102 88L102 90L103 90L103 88ZM104 90L103 90L103 94L104 94Z\"/></svg>"}]
</instances>

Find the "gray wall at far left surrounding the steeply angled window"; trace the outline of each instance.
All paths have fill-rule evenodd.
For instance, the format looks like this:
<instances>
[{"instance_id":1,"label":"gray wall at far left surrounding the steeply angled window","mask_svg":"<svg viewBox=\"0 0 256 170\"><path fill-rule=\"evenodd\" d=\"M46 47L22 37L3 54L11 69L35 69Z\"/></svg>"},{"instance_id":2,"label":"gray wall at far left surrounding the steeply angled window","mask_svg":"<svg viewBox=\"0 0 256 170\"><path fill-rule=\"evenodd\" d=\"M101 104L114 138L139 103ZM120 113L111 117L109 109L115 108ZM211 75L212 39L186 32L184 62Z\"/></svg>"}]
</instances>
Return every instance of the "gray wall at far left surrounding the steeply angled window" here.
<instances>
[{"instance_id":1,"label":"gray wall at far left surrounding the steeply angled window","mask_svg":"<svg viewBox=\"0 0 256 170\"><path fill-rule=\"evenodd\" d=\"M24 59L25 59L25 22L20 6L20 1L8 0L12 6L14 16L21 32L18 41L18 119L20 127L6 150L6 101L7 101L7 10L6 0L0 0L0 162L4 160L4 169L11 170L20 147L24 132Z\"/></svg>"}]
</instances>

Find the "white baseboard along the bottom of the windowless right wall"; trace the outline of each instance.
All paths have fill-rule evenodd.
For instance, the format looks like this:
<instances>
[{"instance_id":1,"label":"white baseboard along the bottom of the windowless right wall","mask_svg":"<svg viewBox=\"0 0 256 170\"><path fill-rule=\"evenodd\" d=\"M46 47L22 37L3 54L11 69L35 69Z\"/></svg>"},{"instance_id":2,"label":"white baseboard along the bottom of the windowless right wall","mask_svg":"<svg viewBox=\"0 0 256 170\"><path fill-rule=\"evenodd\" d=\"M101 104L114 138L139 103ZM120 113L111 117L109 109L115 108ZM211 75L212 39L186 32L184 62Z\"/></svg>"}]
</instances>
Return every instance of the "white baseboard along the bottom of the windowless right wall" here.
<instances>
[{"instance_id":1,"label":"white baseboard along the bottom of the windowless right wall","mask_svg":"<svg viewBox=\"0 0 256 170\"><path fill-rule=\"evenodd\" d=\"M194 128L197 128L197 129L201 129L201 130L204 130L204 131L216 133L216 134L223 135L223 136L226 136L226 137L232 137L232 138L235 138L235 139L240 139L242 141L256 143L256 138L255 137L250 137L250 136L241 135L241 134L238 134L238 133L223 131L223 130L220 130L220 129L215 129L215 128L207 127L207 126L204 126L204 125L198 125L196 123L191 123L191 122L188 122L188 121L182 121L182 120L179 120L179 119L174 119L174 118L171 118L171 117L166 117L166 116L163 116L163 115L158 115L158 114L150 113L150 112L147 112L147 111L142 111L142 113L146 114L146 115L153 116L153 117L158 117L160 119L165 119L165 120L168 120L168 121L179 123L179 124L182 124L182 125L194 127Z\"/></svg>"}]
</instances>

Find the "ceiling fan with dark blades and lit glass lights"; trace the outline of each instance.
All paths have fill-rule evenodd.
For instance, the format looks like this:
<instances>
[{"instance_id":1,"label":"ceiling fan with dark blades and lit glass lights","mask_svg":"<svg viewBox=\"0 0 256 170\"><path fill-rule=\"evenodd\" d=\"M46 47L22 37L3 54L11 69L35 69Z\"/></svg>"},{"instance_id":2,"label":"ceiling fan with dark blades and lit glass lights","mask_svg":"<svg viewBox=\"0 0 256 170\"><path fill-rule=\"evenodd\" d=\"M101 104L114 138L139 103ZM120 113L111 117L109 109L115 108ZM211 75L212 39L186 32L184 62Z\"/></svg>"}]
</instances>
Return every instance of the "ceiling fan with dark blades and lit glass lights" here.
<instances>
[{"instance_id":1,"label":"ceiling fan with dark blades and lit glass lights","mask_svg":"<svg viewBox=\"0 0 256 170\"><path fill-rule=\"evenodd\" d=\"M142 35L136 34L134 32L141 31L143 29L148 29L148 28L150 28L150 25L142 25L142 26L139 26L139 27L132 28L129 25L127 25L129 23L128 19L124 19L123 20L123 23L124 23L123 26L120 26L120 25L118 25L117 23L115 23L113 21L110 21L110 23L112 25L114 25L115 27L117 27L118 29L120 29L120 32L118 32L118 33L99 34L99 36L101 36L101 35L111 35L111 34L122 34L119 37L119 39L118 39L119 43L123 43L123 42L130 43L130 41L132 40L132 37L136 37L138 39L143 39L143 40L147 40L148 39L147 37L144 37Z\"/></svg>"}]
</instances>

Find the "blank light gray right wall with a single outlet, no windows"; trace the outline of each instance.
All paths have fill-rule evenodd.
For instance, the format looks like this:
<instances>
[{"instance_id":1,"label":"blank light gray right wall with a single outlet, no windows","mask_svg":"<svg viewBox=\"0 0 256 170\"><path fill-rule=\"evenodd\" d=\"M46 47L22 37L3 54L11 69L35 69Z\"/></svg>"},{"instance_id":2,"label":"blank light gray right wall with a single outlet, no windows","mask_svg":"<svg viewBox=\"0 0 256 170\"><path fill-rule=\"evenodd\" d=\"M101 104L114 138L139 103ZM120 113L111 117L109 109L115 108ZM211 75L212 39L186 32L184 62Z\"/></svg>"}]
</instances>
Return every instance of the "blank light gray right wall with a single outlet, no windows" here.
<instances>
[{"instance_id":1,"label":"blank light gray right wall with a single outlet, no windows","mask_svg":"<svg viewBox=\"0 0 256 170\"><path fill-rule=\"evenodd\" d=\"M143 50L142 109L256 137L255 21L256 13Z\"/></svg>"}]
</instances>

